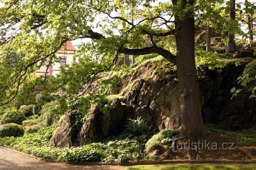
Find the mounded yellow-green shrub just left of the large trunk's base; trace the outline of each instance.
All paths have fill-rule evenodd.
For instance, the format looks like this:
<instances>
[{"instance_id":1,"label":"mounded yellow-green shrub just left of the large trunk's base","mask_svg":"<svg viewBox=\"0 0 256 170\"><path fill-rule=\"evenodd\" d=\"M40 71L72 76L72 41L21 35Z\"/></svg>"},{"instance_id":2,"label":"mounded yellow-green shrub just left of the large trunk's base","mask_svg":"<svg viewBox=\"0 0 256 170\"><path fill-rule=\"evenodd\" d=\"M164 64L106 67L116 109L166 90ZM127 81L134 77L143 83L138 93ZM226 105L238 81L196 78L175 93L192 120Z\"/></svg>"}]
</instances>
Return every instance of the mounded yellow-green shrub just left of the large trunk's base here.
<instances>
[{"instance_id":1,"label":"mounded yellow-green shrub just left of the large trunk's base","mask_svg":"<svg viewBox=\"0 0 256 170\"><path fill-rule=\"evenodd\" d=\"M145 144L145 153L149 153L151 150L159 148L163 145L171 144L172 136L179 134L178 130L164 129L156 135L152 136L150 140ZM169 142L169 143L168 143Z\"/></svg>"}]
</instances>

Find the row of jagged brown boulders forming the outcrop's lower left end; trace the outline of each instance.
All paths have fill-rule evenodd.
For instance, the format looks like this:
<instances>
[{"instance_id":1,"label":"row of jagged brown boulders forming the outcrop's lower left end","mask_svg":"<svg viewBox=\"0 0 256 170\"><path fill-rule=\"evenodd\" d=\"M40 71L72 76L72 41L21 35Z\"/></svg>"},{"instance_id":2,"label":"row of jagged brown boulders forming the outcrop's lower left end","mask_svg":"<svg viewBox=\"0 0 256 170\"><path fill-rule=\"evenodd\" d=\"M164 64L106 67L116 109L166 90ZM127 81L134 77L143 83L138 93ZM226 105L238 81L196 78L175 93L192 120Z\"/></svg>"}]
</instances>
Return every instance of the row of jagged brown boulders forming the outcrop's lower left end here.
<instances>
[{"instance_id":1,"label":"row of jagged brown boulders forming the outcrop's lower left end","mask_svg":"<svg viewBox=\"0 0 256 170\"><path fill-rule=\"evenodd\" d=\"M76 125L76 116L67 112L55 130L51 144L56 147L79 146L118 135L125 120L128 120L129 112L125 110L128 107L122 105L118 98L113 99L110 104L112 107L107 112L100 110L98 105L93 105L90 109L90 118L81 127Z\"/></svg>"}]
</instances>

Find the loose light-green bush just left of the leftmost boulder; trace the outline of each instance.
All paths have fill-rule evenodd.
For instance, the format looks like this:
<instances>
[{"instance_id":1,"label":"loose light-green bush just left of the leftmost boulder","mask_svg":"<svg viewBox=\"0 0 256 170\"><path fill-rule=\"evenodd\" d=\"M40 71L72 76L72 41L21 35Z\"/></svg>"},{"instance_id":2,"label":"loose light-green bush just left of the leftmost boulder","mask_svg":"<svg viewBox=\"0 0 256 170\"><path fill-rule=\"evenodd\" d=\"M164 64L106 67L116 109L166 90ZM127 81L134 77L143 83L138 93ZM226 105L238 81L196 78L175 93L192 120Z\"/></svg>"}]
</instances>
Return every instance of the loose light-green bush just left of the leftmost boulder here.
<instances>
[{"instance_id":1,"label":"loose light-green bush just left of the leftmost boulder","mask_svg":"<svg viewBox=\"0 0 256 170\"><path fill-rule=\"evenodd\" d=\"M59 105L57 101L46 103L40 111L40 120L44 127L51 126L59 117Z\"/></svg>"}]
</instances>

